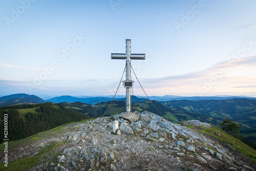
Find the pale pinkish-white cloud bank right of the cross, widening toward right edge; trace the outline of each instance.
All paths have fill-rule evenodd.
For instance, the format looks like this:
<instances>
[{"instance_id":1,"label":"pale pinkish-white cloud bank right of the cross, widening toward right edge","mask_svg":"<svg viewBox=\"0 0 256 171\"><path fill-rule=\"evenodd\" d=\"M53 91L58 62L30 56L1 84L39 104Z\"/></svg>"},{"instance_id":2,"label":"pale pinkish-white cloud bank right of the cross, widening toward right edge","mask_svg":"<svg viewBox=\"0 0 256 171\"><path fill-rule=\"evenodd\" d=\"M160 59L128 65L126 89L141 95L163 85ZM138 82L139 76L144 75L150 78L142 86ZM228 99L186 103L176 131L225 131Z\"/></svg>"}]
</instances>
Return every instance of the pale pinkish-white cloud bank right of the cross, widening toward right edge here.
<instances>
[{"instance_id":1,"label":"pale pinkish-white cloud bank right of the cross, widening toward right edge","mask_svg":"<svg viewBox=\"0 0 256 171\"><path fill-rule=\"evenodd\" d=\"M217 63L216 65L198 72L184 75L168 76L143 80L147 89L154 91L166 91L165 94L179 92L195 93L198 88L203 88L206 82L214 82L212 91L225 91L228 88L252 88L256 84L256 74L249 69L256 68L256 56L233 59ZM236 75L236 73L243 73ZM152 90L153 91L153 90ZM167 91L172 91L168 93ZM210 91L209 91L210 92Z\"/></svg>"}]
</instances>

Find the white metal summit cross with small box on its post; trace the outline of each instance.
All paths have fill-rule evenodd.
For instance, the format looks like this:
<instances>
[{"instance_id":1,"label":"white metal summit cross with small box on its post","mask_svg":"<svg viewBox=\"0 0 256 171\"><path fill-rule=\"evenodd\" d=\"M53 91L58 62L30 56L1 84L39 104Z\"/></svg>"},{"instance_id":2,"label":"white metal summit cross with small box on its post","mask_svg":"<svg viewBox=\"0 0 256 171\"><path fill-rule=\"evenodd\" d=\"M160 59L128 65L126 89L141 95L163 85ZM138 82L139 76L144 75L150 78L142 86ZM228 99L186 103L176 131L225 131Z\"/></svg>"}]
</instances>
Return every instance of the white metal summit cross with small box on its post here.
<instances>
[{"instance_id":1,"label":"white metal summit cross with small box on its post","mask_svg":"<svg viewBox=\"0 0 256 171\"><path fill-rule=\"evenodd\" d=\"M145 54L131 54L131 40L126 39L126 53L112 53L111 59L126 59L126 80L123 85L126 88L126 112L131 112L131 59L145 59Z\"/></svg>"}]
</instances>

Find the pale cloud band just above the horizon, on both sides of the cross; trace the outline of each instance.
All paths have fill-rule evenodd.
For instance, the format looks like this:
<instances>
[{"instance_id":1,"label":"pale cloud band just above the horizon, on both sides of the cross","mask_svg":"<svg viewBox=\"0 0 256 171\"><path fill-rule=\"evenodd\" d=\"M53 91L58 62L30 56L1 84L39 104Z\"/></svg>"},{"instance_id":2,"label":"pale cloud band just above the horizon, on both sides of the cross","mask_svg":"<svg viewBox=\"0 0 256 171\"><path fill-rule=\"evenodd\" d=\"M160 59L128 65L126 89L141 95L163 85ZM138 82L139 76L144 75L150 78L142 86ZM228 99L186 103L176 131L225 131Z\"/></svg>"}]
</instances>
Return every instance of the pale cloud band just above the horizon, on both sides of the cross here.
<instances>
[{"instance_id":1,"label":"pale cloud band just above the horizon, on both sides of the cross","mask_svg":"<svg viewBox=\"0 0 256 171\"><path fill-rule=\"evenodd\" d=\"M140 82L149 94L165 95L198 95L197 89L203 88L205 83L212 83L212 89L207 93L211 95L234 94L256 96L253 88L256 86L256 56L241 59L233 59L217 63L216 65L198 72L191 72L183 75L168 76L163 78L140 79ZM0 80L0 87L27 90L27 82L19 80ZM68 92L83 92L80 94L113 94L116 92L119 80L111 79L87 79L87 80L46 80L44 86L37 87L34 92L46 92L40 94L67 94ZM121 85L119 93L124 89ZM135 95L142 95L143 92L135 80ZM1 94L1 93L0 93ZM205 95L208 95L205 94Z\"/></svg>"}]
</instances>

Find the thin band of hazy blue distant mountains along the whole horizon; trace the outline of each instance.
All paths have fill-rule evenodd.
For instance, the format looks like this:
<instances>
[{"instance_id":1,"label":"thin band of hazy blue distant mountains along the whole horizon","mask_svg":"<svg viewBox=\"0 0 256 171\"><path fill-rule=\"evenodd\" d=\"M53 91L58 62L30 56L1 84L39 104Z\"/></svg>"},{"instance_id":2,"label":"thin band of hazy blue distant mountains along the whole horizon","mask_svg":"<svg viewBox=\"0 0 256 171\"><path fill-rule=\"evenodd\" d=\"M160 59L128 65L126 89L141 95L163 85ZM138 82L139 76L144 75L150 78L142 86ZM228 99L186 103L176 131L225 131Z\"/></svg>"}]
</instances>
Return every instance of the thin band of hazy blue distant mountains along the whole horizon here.
<instances>
[{"instance_id":1,"label":"thin band of hazy blue distant mountains along the whole horizon","mask_svg":"<svg viewBox=\"0 0 256 171\"><path fill-rule=\"evenodd\" d=\"M234 99L234 98L247 98L247 99L256 99L254 97L247 97L247 96L194 96L194 97L185 97L185 96L173 96L173 95L165 95L165 96L149 96L151 100L156 101L170 101L170 100L192 100L192 101L200 101L200 100L227 100L227 99ZM35 95L28 95L28 94L13 94L8 96L0 97L0 107L8 106L8 105L18 105L18 104L29 104L29 103L45 103L47 101L53 103L60 103L60 102L83 102L88 104L97 104L100 102L111 101L113 99L112 95L107 96L46 96L42 95L40 97ZM125 101L124 95L116 95L115 100ZM142 102L147 101L148 98L146 96L132 96L132 102Z\"/></svg>"}]
</instances>

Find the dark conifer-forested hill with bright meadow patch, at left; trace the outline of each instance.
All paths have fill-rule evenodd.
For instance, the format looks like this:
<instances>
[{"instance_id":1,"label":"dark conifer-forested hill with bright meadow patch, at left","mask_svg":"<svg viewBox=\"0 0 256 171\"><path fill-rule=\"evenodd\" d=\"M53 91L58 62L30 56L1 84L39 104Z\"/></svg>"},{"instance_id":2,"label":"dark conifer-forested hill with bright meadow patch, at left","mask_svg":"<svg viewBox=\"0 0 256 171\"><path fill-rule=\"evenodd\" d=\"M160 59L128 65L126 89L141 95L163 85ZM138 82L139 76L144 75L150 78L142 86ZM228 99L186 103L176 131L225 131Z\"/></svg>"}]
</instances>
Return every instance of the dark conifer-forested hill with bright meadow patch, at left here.
<instances>
[{"instance_id":1,"label":"dark conifer-forested hill with bright meadow patch, at left","mask_svg":"<svg viewBox=\"0 0 256 171\"><path fill-rule=\"evenodd\" d=\"M23 139L62 124L90 118L88 115L69 110L60 104L6 106L0 108L1 133L4 133L4 114L8 114L8 138L10 141ZM0 143L3 143L3 139L4 135L0 134Z\"/></svg>"}]
</instances>

